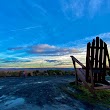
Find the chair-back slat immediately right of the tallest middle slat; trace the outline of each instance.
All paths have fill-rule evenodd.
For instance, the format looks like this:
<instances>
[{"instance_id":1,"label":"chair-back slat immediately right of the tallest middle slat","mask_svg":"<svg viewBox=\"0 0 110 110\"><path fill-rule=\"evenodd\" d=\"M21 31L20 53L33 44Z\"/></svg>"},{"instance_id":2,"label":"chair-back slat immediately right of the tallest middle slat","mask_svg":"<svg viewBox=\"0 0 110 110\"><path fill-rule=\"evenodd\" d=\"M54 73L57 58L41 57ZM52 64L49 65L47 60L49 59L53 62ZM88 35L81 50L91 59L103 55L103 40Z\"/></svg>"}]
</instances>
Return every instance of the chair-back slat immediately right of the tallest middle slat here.
<instances>
[{"instance_id":1,"label":"chair-back slat immediately right of the tallest middle slat","mask_svg":"<svg viewBox=\"0 0 110 110\"><path fill-rule=\"evenodd\" d=\"M103 54L103 41L102 39L100 39L100 55L99 55L99 69L101 70L100 73L98 74L98 80L101 82L102 80L102 74L103 74L103 70L102 70L102 60L103 60L103 57L102 57L102 54Z\"/></svg>"}]
</instances>

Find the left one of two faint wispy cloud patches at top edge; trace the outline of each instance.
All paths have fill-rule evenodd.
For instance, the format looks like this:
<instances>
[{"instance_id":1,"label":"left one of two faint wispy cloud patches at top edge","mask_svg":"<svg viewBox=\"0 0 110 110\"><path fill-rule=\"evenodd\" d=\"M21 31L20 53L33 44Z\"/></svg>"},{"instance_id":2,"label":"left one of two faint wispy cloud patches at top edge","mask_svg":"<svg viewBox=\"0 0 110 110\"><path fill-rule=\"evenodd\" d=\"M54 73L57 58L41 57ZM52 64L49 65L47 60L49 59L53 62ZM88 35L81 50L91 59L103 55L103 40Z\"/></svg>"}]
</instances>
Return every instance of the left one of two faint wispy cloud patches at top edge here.
<instances>
[{"instance_id":1,"label":"left one of two faint wispy cloud patches at top edge","mask_svg":"<svg viewBox=\"0 0 110 110\"><path fill-rule=\"evenodd\" d=\"M67 19L80 18L84 14L85 0L61 0L61 9Z\"/></svg>"}]
</instances>

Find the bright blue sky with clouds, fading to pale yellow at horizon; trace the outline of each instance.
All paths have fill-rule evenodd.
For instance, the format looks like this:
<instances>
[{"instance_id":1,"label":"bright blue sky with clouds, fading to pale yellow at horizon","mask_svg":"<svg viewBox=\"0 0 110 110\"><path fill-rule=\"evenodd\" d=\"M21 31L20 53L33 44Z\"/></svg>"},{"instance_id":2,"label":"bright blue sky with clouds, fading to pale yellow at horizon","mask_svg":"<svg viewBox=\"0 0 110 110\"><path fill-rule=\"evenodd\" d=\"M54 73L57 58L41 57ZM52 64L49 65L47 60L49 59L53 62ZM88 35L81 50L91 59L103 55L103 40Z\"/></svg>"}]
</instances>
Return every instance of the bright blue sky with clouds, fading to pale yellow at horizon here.
<instances>
[{"instance_id":1,"label":"bright blue sky with clouds, fading to pale yellow at horizon","mask_svg":"<svg viewBox=\"0 0 110 110\"><path fill-rule=\"evenodd\" d=\"M0 0L0 68L85 65L96 36L110 47L110 0Z\"/></svg>"}]
</instances>

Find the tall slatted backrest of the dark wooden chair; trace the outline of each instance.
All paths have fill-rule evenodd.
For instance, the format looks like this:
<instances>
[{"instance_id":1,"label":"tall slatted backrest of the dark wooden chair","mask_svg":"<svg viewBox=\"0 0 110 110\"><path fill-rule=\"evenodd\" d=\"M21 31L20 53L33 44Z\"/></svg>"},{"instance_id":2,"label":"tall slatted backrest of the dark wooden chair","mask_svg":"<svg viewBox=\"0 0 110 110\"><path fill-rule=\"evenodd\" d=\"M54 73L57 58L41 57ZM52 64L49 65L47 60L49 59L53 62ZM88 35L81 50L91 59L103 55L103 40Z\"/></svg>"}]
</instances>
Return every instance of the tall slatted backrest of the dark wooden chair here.
<instances>
[{"instance_id":1,"label":"tall slatted backrest of the dark wooden chair","mask_svg":"<svg viewBox=\"0 0 110 110\"><path fill-rule=\"evenodd\" d=\"M90 42L87 44L87 54L86 54L86 81L89 81L91 77L90 74L90 65L92 69L92 76L94 83L104 82L106 70L106 57L108 57L109 67L110 60L107 50L107 45L99 37L96 37L96 40L93 39L92 44ZM88 58L90 59L90 65L88 63ZM100 71L99 71L100 70Z\"/></svg>"}]
</instances>

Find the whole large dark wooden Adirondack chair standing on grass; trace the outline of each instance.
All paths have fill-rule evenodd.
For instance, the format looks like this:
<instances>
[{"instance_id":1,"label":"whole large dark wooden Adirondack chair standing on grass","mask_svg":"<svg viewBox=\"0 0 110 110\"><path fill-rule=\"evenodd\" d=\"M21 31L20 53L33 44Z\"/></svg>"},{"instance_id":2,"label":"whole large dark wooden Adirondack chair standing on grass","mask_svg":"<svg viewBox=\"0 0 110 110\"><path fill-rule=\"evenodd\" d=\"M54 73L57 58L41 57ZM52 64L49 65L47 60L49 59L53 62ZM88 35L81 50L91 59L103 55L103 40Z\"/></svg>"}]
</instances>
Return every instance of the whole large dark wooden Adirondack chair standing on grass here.
<instances>
[{"instance_id":1,"label":"whole large dark wooden Adirondack chair standing on grass","mask_svg":"<svg viewBox=\"0 0 110 110\"><path fill-rule=\"evenodd\" d=\"M87 43L86 66L71 56L76 71L76 84L84 84L91 92L94 89L110 89L110 83L106 81L106 71L110 70L110 59L107 44L99 37ZM107 61L108 65L107 66ZM76 63L82 69L76 68ZM96 87L97 84L104 86Z\"/></svg>"}]
</instances>

